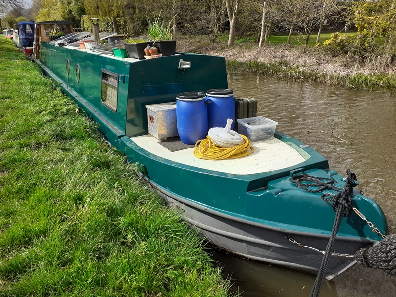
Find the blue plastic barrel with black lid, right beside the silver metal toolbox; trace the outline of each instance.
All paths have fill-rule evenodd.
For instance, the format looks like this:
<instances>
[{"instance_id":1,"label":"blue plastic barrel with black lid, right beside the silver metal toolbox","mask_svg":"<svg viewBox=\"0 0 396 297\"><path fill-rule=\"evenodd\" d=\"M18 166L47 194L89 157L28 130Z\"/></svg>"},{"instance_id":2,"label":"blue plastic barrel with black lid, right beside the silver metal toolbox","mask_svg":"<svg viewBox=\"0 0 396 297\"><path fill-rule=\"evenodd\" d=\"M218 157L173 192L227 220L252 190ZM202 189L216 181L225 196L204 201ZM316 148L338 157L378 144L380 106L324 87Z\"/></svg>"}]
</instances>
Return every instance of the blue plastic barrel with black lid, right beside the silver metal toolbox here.
<instances>
[{"instance_id":1,"label":"blue plastic barrel with black lid, right beside the silver metal toolbox","mask_svg":"<svg viewBox=\"0 0 396 297\"><path fill-rule=\"evenodd\" d=\"M182 143L195 145L207 135L207 108L202 92L180 93L176 99L177 131Z\"/></svg>"}]
</instances>

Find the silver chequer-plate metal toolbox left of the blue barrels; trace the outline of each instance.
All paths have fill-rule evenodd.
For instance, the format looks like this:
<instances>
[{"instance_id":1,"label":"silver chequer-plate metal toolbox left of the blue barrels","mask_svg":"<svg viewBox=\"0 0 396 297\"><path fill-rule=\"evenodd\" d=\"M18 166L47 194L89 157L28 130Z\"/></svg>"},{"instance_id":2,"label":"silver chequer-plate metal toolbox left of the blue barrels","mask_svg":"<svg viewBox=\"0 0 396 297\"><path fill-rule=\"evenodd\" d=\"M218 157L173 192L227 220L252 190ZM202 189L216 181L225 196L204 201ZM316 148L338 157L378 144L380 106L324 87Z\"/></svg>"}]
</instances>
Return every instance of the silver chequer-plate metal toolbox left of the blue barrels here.
<instances>
[{"instance_id":1,"label":"silver chequer-plate metal toolbox left of the blue barrels","mask_svg":"<svg viewBox=\"0 0 396 297\"><path fill-rule=\"evenodd\" d=\"M159 140L178 136L176 102L146 105L148 133Z\"/></svg>"}]
</instances>

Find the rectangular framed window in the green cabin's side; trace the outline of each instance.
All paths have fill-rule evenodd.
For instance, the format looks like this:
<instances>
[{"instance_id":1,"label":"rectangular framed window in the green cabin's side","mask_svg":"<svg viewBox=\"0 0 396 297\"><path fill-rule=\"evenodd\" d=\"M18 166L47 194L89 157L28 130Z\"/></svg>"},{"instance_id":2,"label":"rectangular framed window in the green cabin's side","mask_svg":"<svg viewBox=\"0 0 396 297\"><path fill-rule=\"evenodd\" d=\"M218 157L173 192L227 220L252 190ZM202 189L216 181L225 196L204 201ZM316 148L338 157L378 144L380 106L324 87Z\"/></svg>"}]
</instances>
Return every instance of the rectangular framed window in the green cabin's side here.
<instances>
[{"instance_id":1,"label":"rectangular framed window in the green cabin's side","mask_svg":"<svg viewBox=\"0 0 396 297\"><path fill-rule=\"evenodd\" d=\"M110 110L117 111L118 74L102 69L102 103Z\"/></svg>"}]
</instances>

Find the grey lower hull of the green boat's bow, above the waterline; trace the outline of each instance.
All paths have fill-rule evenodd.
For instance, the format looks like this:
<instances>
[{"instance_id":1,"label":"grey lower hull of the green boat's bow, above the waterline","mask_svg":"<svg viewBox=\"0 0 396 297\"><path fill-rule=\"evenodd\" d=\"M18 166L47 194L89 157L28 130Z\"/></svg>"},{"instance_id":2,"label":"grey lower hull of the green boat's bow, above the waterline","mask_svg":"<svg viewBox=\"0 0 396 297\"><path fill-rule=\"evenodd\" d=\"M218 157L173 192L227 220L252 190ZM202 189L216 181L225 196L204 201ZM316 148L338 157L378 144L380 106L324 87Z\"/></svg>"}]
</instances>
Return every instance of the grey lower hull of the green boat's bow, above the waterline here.
<instances>
[{"instance_id":1,"label":"grey lower hull of the green boat's bow, above the waterline","mask_svg":"<svg viewBox=\"0 0 396 297\"><path fill-rule=\"evenodd\" d=\"M323 253L329 241L328 235L296 232L255 224L247 220L212 211L183 198L172 195L152 184L171 208L195 227L207 242L233 254L255 261L275 264L310 273L319 271ZM300 247L292 239L308 247ZM337 236L334 252L343 256L330 257L327 279L332 279L355 264L354 255L360 248L372 246L377 241Z\"/></svg>"}]
</instances>

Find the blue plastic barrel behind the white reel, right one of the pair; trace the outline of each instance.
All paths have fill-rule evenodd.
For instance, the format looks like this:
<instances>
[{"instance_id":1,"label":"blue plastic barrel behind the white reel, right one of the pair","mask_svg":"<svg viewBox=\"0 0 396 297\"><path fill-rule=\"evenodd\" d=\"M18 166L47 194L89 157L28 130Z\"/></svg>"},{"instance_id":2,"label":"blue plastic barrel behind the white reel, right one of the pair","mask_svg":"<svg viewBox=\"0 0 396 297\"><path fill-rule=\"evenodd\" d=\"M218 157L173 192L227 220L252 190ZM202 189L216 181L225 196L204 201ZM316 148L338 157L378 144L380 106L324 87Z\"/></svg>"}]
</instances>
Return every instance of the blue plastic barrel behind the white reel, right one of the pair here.
<instances>
[{"instance_id":1,"label":"blue plastic barrel behind the white reel, right one of the pair","mask_svg":"<svg viewBox=\"0 0 396 297\"><path fill-rule=\"evenodd\" d=\"M234 91L230 89L210 89L206 92L208 113L208 129L225 127L227 119L232 119L231 129L234 128L235 103Z\"/></svg>"}]
</instances>

